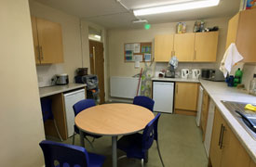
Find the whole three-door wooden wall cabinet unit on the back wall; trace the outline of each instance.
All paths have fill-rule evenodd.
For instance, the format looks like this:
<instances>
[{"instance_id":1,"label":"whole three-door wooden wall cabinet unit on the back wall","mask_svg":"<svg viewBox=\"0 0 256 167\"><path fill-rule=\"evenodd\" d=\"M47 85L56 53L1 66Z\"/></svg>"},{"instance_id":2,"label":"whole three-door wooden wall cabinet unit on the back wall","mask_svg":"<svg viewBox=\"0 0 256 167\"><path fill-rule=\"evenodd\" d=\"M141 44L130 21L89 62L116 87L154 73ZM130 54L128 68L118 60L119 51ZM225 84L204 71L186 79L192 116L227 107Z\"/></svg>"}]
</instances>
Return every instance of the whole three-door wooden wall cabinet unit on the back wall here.
<instances>
[{"instance_id":1,"label":"whole three-door wooden wall cabinet unit on the back wall","mask_svg":"<svg viewBox=\"0 0 256 167\"><path fill-rule=\"evenodd\" d=\"M155 61L215 62L219 32L181 33L155 36Z\"/></svg>"}]
</instances>

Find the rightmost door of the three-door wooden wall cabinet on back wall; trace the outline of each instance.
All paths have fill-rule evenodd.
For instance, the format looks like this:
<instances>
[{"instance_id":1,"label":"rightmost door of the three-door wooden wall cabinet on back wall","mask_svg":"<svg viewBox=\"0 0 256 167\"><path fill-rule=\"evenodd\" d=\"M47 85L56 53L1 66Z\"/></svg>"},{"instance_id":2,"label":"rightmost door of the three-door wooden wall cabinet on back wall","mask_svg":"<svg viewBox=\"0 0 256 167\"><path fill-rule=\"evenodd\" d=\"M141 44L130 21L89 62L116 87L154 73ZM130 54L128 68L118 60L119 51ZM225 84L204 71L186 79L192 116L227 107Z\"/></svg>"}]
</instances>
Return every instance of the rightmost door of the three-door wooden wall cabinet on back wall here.
<instances>
[{"instance_id":1,"label":"rightmost door of the three-door wooden wall cabinet on back wall","mask_svg":"<svg viewBox=\"0 0 256 167\"><path fill-rule=\"evenodd\" d=\"M215 62L219 32L195 33L195 57L197 62Z\"/></svg>"}]
</instances>

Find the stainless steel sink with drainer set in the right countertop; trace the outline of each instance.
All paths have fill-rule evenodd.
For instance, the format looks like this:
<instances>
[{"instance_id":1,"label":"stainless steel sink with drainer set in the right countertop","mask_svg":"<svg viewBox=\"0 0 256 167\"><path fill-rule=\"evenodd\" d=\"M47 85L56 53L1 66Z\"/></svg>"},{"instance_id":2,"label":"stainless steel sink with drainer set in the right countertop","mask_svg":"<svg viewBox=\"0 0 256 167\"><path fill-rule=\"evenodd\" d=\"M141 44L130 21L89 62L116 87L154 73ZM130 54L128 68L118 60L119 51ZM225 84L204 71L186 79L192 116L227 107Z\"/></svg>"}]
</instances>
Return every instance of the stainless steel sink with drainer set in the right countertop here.
<instances>
[{"instance_id":1,"label":"stainless steel sink with drainer set in the right countertop","mask_svg":"<svg viewBox=\"0 0 256 167\"><path fill-rule=\"evenodd\" d=\"M245 109L245 106L248 103L234 102L234 101L222 101L222 104L228 109L232 115L236 118L236 120L245 128L245 130L252 136L254 140L256 140L256 133L253 132L247 123L236 113L236 110L240 111L244 115L246 115L250 120L256 121L256 112ZM255 104L254 104L255 105Z\"/></svg>"}]
</instances>

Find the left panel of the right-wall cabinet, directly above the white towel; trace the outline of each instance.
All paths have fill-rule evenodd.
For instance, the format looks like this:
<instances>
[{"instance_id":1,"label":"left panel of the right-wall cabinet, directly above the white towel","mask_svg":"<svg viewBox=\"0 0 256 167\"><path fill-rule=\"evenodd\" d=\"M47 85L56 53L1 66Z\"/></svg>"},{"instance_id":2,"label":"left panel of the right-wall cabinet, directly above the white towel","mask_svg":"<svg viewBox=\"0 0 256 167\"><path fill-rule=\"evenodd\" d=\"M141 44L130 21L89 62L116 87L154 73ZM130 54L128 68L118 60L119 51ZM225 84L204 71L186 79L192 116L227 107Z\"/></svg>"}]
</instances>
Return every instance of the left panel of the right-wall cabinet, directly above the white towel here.
<instances>
[{"instance_id":1,"label":"left panel of the right-wall cabinet, directly above the white towel","mask_svg":"<svg viewBox=\"0 0 256 167\"><path fill-rule=\"evenodd\" d=\"M226 38L226 49L231 43L236 43L236 34L238 31L239 13L228 21L228 31Z\"/></svg>"}]
</instances>

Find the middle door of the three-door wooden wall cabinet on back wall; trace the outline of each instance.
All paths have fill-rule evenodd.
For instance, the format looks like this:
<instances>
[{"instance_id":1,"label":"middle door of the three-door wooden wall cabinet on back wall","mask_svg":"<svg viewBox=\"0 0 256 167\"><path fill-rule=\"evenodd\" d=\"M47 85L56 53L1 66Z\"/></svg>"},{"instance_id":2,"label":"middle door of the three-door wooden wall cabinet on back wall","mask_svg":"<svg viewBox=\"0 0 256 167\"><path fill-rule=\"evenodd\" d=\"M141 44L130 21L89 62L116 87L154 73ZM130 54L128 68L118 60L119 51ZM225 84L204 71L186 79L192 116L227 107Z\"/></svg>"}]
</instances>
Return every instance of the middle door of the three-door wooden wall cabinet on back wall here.
<instances>
[{"instance_id":1,"label":"middle door of the three-door wooden wall cabinet on back wall","mask_svg":"<svg viewBox=\"0 0 256 167\"><path fill-rule=\"evenodd\" d=\"M193 61L195 54L195 33L181 33L174 36L174 55L182 61Z\"/></svg>"}]
</instances>

